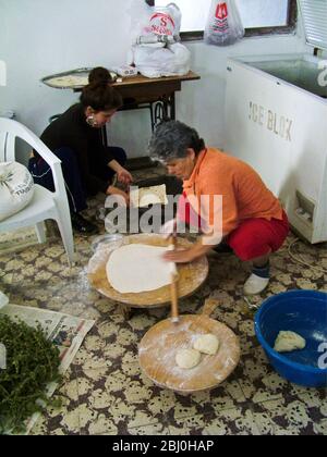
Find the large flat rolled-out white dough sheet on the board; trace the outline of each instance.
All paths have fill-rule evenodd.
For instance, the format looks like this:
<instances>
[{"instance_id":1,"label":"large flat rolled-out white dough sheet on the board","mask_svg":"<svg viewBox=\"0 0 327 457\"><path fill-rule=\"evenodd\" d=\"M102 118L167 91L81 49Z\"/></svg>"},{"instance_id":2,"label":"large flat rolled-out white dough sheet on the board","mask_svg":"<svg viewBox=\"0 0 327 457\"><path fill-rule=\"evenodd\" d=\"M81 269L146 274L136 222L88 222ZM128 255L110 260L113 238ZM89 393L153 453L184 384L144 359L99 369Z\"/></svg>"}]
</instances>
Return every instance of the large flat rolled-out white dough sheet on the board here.
<instances>
[{"instance_id":1,"label":"large flat rolled-out white dough sheet on the board","mask_svg":"<svg viewBox=\"0 0 327 457\"><path fill-rule=\"evenodd\" d=\"M121 294L156 291L170 284L177 270L173 262L162 259L167 250L167 247L142 244L119 247L107 262L109 283Z\"/></svg>"}]
</instances>

